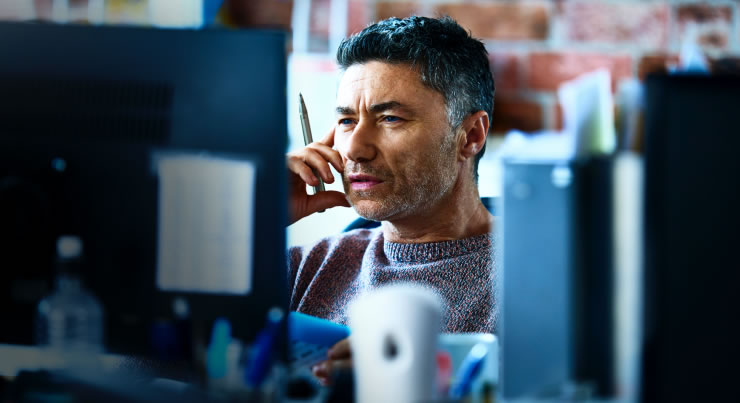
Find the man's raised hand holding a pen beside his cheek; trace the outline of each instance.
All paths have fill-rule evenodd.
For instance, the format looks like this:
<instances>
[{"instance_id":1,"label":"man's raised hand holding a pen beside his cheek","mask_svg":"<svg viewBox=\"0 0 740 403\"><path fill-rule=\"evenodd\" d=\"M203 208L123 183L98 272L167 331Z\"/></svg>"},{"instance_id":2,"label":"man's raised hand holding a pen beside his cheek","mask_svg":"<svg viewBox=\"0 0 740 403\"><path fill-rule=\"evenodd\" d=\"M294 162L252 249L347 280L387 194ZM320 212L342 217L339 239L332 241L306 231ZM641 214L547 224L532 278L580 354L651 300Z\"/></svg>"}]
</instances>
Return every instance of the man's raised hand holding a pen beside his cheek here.
<instances>
[{"instance_id":1,"label":"man's raised hand holding a pen beside his cheek","mask_svg":"<svg viewBox=\"0 0 740 403\"><path fill-rule=\"evenodd\" d=\"M298 151L288 153L288 170L290 171L290 223L317 211L331 207L349 207L349 202L342 192L327 190L315 195L306 192L306 184L317 186L316 174L326 183L334 183L334 175L329 164L339 171L344 171L342 156L334 150L334 129L320 141L313 142ZM316 174L315 174L315 173Z\"/></svg>"}]
</instances>

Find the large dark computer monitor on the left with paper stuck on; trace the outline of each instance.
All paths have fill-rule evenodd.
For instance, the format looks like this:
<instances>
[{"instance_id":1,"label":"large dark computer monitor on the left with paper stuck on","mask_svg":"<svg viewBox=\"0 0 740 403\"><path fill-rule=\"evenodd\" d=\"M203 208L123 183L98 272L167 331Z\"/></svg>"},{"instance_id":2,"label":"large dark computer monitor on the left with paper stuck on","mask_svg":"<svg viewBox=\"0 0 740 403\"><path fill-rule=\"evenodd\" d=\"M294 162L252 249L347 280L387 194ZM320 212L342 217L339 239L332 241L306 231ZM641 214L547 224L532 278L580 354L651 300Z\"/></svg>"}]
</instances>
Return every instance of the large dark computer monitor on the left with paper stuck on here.
<instances>
[{"instance_id":1,"label":"large dark computer monitor on the left with paper stuck on","mask_svg":"<svg viewBox=\"0 0 740 403\"><path fill-rule=\"evenodd\" d=\"M33 343L55 240L84 243L106 350L287 309L281 32L0 24L0 343Z\"/></svg>"}]
</instances>

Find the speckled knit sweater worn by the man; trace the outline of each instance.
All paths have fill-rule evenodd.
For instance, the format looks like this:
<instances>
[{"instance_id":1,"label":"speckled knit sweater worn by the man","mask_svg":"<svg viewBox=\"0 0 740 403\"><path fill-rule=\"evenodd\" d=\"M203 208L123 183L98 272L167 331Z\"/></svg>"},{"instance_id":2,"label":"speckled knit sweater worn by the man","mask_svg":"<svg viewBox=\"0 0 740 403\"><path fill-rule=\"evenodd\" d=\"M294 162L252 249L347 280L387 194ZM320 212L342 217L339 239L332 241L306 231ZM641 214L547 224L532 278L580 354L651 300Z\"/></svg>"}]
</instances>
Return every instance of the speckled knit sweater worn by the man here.
<instances>
[{"instance_id":1,"label":"speckled knit sweater worn by the man","mask_svg":"<svg viewBox=\"0 0 740 403\"><path fill-rule=\"evenodd\" d=\"M346 324L354 297L375 287L412 282L441 297L442 331L496 331L493 236L398 243L380 228L358 229L288 251L290 309Z\"/></svg>"}]
</instances>

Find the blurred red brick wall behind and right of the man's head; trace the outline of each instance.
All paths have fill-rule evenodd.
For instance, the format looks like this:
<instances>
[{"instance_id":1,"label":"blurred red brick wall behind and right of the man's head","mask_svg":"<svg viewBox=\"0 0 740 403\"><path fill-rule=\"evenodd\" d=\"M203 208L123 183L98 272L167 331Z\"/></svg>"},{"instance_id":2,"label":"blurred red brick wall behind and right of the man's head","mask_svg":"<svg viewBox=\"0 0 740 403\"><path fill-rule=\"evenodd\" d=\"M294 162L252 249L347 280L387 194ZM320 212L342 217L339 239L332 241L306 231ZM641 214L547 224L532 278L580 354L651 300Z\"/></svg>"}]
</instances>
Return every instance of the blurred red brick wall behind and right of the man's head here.
<instances>
[{"instance_id":1,"label":"blurred red brick wall behind and right of the man's head","mask_svg":"<svg viewBox=\"0 0 740 403\"><path fill-rule=\"evenodd\" d=\"M392 16L455 18L490 53L493 131L503 133L560 128L555 90L581 73L606 67L616 88L622 79L665 70L692 24L709 57L740 54L739 6L738 0L349 0L348 29ZM320 32L320 16L313 20Z\"/></svg>"}]
</instances>

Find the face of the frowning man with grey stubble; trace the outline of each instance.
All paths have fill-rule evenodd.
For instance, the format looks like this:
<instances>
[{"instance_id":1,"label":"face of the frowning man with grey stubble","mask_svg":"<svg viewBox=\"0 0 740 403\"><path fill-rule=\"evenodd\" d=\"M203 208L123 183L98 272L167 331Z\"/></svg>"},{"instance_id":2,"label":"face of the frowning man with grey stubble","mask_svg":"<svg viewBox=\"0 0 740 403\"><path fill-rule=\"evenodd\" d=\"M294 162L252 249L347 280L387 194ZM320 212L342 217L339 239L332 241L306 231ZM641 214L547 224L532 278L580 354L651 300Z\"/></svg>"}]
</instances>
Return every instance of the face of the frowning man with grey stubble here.
<instances>
[{"instance_id":1,"label":"face of the frowning man with grey stubble","mask_svg":"<svg viewBox=\"0 0 740 403\"><path fill-rule=\"evenodd\" d=\"M336 149L357 213L394 220L423 213L457 177L457 147L444 98L408 65L349 67L337 94Z\"/></svg>"}]
</instances>

